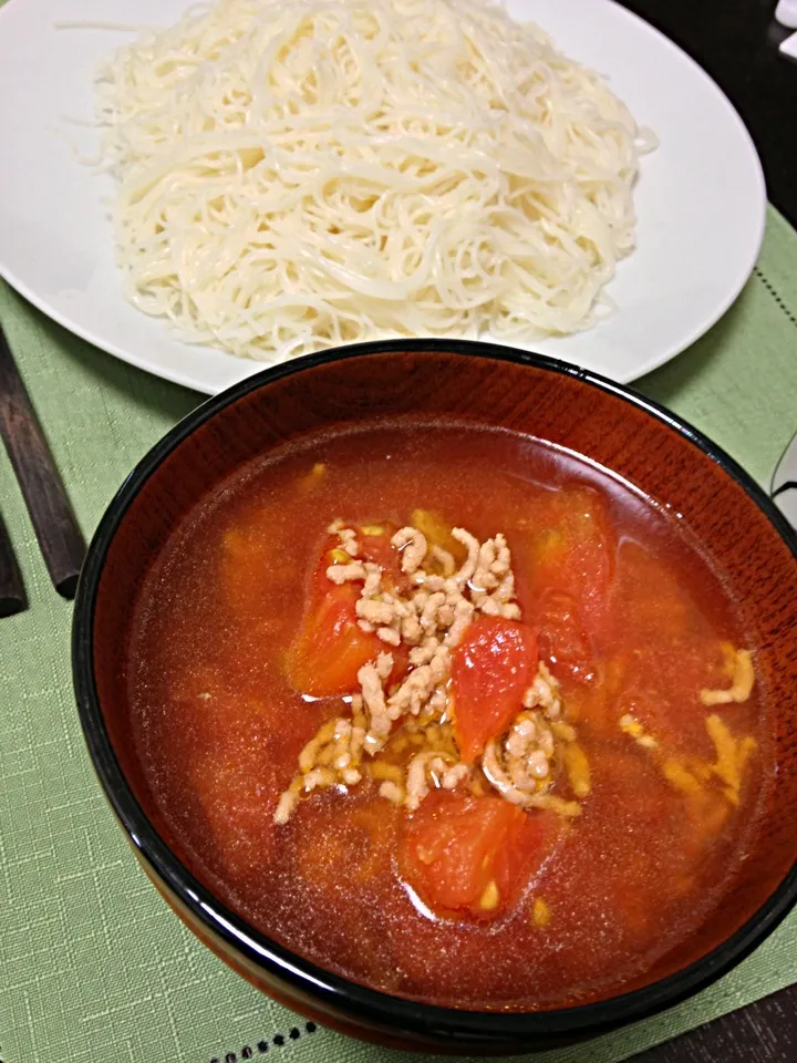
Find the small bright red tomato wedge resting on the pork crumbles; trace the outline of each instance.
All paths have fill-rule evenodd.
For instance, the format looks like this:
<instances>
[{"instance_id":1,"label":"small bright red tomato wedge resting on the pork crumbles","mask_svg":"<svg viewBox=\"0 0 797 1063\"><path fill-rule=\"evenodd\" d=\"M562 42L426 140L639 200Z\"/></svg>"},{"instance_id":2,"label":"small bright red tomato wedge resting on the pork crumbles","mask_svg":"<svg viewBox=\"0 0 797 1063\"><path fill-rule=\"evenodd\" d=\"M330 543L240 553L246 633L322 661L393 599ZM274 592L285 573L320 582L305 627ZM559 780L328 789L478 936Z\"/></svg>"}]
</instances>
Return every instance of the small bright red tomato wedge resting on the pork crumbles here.
<instances>
[{"instance_id":1,"label":"small bright red tomato wedge resting on the pork crumbles","mask_svg":"<svg viewBox=\"0 0 797 1063\"><path fill-rule=\"evenodd\" d=\"M480 617L454 651L454 725L462 758L472 764L522 706L537 669L537 636L501 617Z\"/></svg>"}]
</instances>

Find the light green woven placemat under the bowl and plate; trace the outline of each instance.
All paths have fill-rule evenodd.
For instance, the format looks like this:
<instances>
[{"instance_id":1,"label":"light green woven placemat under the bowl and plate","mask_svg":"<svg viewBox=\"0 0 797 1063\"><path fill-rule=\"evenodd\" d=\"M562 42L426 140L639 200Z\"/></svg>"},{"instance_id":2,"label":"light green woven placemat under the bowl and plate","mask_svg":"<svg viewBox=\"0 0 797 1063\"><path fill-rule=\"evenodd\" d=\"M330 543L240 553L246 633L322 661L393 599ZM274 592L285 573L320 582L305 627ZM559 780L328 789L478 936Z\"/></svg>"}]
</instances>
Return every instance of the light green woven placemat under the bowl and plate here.
<instances>
[{"instance_id":1,"label":"light green woven placemat under the bowl and plate","mask_svg":"<svg viewBox=\"0 0 797 1063\"><path fill-rule=\"evenodd\" d=\"M797 235L769 210L755 275L691 350L639 383L760 482L797 429ZM0 318L90 535L125 474L200 396L75 339L0 286ZM0 621L0 1060L397 1063L258 994L184 930L92 773L52 590L4 455L0 500L30 609ZM537 1063L614 1063L797 979L797 917L696 999Z\"/></svg>"}]
</instances>

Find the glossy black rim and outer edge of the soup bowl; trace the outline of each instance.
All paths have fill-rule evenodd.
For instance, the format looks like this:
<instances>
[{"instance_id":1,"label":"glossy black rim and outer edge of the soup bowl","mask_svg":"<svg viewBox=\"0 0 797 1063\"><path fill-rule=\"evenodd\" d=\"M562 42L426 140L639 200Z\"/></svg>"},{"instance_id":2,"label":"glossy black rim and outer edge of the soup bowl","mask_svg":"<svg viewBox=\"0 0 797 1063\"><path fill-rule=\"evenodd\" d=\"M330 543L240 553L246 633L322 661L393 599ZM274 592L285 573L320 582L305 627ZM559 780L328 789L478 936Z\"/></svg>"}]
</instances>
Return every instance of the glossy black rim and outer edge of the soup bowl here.
<instances>
[{"instance_id":1,"label":"glossy black rim and outer edge of the soup bowl","mask_svg":"<svg viewBox=\"0 0 797 1063\"><path fill-rule=\"evenodd\" d=\"M725 451L689 422L623 384L568 362L515 348L469 340L376 340L304 355L246 378L201 403L166 433L126 477L108 505L89 547L80 578L72 626L72 668L75 698L84 737L95 772L130 840L189 909L192 915L228 946L300 993L315 999L321 1009L348 1015L354 1025L448 1043L485 1046L525 1042L535 1038L584 1038L650 1016L710 985L748 956L797 902L797 860L755 915L731 938L694 963L650 985L607 1000L550 1011L467 1011L421 1003L369 989L302 959L250 927L220 904L182 864L151 825L116 760L100 706L93 668L93 622L103 566L114 535L142 485L166 457L199 425L252 391L318 365L370 354L448 353L514 362L572 376L608 392L663 422L698 447L735 479L768 517L797 560L797 536L764 491Z\"/></svg>"}]
</instances>

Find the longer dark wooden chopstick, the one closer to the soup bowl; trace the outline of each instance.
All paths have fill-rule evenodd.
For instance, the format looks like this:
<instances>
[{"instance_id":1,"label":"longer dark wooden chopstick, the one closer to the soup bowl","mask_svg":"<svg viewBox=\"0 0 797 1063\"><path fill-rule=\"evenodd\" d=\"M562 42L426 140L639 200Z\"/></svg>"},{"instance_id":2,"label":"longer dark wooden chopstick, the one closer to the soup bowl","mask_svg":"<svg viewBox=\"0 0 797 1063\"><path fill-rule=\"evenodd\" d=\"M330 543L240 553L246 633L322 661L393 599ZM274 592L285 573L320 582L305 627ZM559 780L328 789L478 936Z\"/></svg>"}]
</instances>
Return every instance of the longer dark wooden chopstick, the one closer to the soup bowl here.
<instances>
[{"instance_id":1,"label":"longer dark wooden chopstick, the one closer to the soup bowl","mask_svg":"<svg viewBox=\"0 0 797 1063\"><path fill-rule=\"evenodd\" d=\"M74 598L85 557L85 540L2 329L0 435L17 474L53 586L64 598Z\"/></svg>"}]
</instances>

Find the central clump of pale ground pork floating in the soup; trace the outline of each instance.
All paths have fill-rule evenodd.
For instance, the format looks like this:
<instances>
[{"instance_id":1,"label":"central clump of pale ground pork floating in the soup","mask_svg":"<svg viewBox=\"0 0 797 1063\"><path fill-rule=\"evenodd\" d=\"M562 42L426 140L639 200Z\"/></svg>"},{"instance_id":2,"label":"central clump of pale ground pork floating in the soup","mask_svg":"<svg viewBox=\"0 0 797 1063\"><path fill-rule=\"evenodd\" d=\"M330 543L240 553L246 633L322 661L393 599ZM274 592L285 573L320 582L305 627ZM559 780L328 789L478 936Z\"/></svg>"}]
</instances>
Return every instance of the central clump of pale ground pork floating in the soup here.
<instances>
[{"instance_id":1,"label":"central clump of pale ground pork floating in the soup","mask_svg":"<svg viewBox=\"0 0 797 1063\"><path fill-rule=\"evenodd\" d=\"M407 592L398 594L384 588L379 565L360 559L353 528L338 519L329 532L339 536L351 560L341 557L339 564L330 565L328 578L339 586L362 582L355 605L358 625L391 647L408 647L410 671L398 685L387 689L394 665L390 652L379 653L359 670L360 692L352 698L352 720L330 721L302 750L299 773L275 815L278 823L288 821L302 793L359 782L362 756L381 753L401 720L412 741L426 747L411 757L403 776L390 762L373 762L381 765L374 777L381 778L380 793L385 799L413 812L431 786L453 789L470 778L473 768L459 763L446 723L452 714L452 650L477 612L511 619L520 616L514 600L511 553L500 533L479 543L465 528L452 529L453 538L466 551L457 569L453 555L436 544L429 546L418 528L401 528L391 545L401 553L402 571L412 584ZM559 687L545 664L540 664L524 704L508 732L485 749L484 774L507 801L525 807L558 802L560 811L576 814L570 807L573 803L548 793L557 750L575 742L575 732L560 719Z\"/></svg>"}]
</instances>

